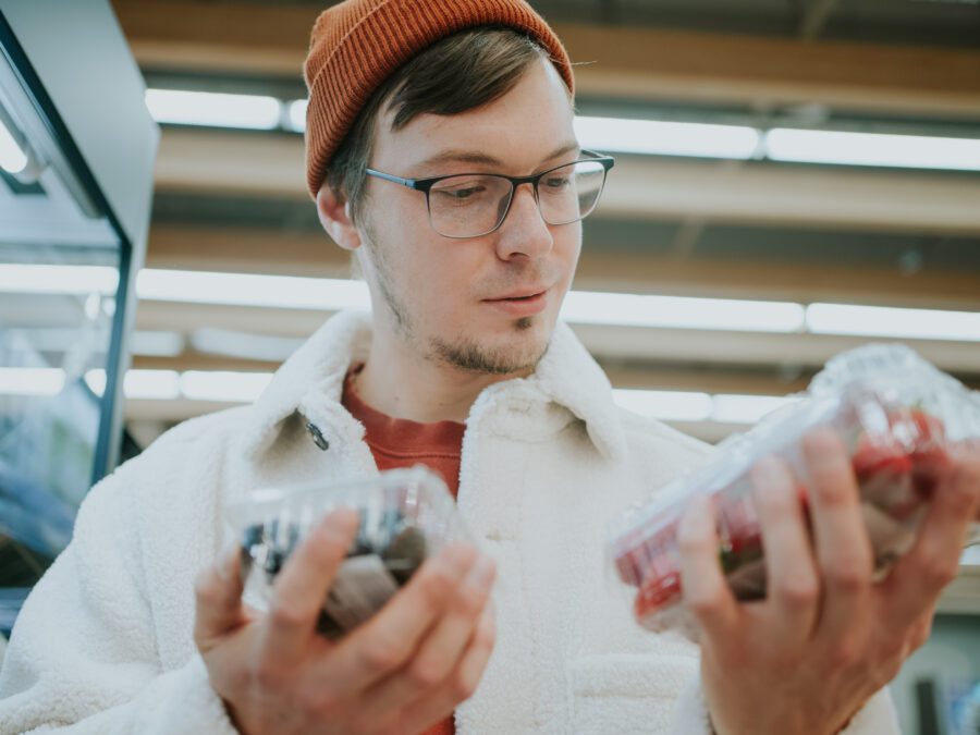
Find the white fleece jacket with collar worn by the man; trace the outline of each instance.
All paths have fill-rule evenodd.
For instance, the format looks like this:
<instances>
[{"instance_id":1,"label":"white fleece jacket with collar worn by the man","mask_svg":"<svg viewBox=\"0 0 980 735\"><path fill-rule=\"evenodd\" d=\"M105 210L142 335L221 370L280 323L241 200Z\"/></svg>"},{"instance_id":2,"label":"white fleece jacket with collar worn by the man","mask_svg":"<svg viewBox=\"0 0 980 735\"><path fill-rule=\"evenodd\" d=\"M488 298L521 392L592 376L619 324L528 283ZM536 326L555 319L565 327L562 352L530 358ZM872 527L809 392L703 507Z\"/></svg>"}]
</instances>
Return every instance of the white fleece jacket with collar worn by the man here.
<instances>
[{"instance_id":1,"label":"white fleece jacket with collar worn by the man","mask_svg":"<svg viewBox=\"0 0 980 735\"><path fill-rule=\"evenodd\" d=\"M255 404L182 424L91 490L17 621L0 671L0 733L234 732L192 640L194 578L229 541L230 498L378 471L340 403L369 341L368 315L330 319ZM456 711L460 735L707 735L697 647L639 628L603 569L609 523L707 451L617 408L564 324L532 377L479 395L458 509L498 562L499 633L476 695ZM886 693L847 731L896 732Z\"/></svg>"}]
</instances>

